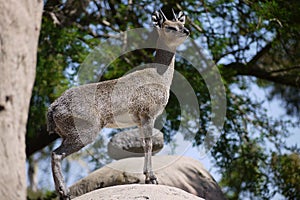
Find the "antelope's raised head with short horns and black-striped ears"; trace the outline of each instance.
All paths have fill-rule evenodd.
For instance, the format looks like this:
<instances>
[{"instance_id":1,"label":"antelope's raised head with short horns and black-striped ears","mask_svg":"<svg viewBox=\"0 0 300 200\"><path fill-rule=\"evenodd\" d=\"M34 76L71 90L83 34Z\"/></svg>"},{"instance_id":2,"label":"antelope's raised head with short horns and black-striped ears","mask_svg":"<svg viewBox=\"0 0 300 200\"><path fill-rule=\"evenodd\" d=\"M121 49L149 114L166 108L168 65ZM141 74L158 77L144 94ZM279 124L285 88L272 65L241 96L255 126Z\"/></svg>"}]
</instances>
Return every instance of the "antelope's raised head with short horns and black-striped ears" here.
<instances>
[{"instance_id":1,"label":"antelope's raised head with short horns and black-striped ears","mask_svg":"<svg viewBox=\"0 0 300 200\"><path fill-rule=\"evenodd\" d=\"M169 20L160 11L155 11L152 15L154 26L158 29L159 41L169 48L176 48L182 44L190 34L190 31L184 27L185 16L182 11L175 14L172 9L173 19Z\"/></svg>"}]
</instances>

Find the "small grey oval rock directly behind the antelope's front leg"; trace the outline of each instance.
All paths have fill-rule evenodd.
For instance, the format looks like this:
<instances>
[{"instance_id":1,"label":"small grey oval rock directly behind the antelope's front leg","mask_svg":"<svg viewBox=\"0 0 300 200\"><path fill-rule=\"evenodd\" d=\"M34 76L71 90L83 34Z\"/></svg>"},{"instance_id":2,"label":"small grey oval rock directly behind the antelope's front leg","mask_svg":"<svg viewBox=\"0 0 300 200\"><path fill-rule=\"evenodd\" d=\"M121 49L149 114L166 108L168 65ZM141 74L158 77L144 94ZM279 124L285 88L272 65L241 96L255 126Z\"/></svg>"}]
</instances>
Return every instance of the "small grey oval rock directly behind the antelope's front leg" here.
<instances>
[{"instance_id":1,"label":"small grey oval rock directly behind the antelope's front leg","mask_svg":"<svg viewBox=\"0 0 300 200\"><path fill-rule=\"evenodd\" d=\"M163 133L153 129L153 155L158 153L164 146ZM143 157L144 149L139 129L130 129L114 135L107 145L108 155L116 160L129 157Z\"/></svg>"}]
</instances>

